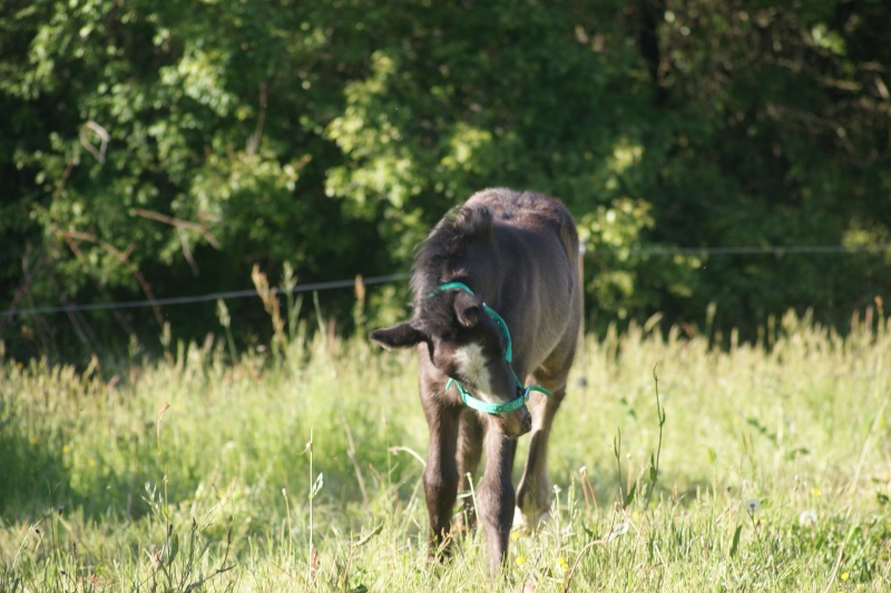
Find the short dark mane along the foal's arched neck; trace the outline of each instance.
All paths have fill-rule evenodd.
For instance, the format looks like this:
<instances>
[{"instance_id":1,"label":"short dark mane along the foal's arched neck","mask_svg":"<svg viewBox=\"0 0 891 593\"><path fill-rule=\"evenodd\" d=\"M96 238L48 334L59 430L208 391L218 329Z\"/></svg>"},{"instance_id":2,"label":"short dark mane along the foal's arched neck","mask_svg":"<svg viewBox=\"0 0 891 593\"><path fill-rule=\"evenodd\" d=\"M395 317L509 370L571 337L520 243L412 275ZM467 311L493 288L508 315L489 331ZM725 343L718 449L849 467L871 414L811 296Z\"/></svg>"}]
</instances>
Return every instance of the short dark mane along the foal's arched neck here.
<instances>
[{"instance_id":1,"label":"short dark mane along the foal's arched neck","mask_svg":"<svg viewBox=\"0 0 891 593\"><path fill-rule=\"evenodd\" d=\"M486 205L466 204L449 210L433 227L414 256L411 288L415 306L440 284L457 279L457 256L464 246L492 238L493 218Z\"/></svg>"}]
</instances>

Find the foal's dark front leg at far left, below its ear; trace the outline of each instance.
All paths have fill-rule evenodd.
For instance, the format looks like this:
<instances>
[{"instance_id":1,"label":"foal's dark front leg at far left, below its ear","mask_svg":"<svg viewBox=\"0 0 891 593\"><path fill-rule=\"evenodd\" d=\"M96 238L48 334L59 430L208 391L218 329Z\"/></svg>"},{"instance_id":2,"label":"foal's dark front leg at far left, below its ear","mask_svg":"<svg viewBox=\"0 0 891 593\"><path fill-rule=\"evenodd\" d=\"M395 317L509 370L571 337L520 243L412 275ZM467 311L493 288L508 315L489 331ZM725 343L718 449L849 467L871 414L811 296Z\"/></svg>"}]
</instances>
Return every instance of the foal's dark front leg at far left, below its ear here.
<instances>
[{"instance_id":1,"label":"foal's dark front leg at far left, below its ear","mask_svg":"<svg viewBox=\"0 0 891 593\"><path fill-rule=\"evenodd\" d=\"M461 408L430 405L427 424L430 445L423 473L427 514L430 518L430 552L441 548L449 537L452 511L458 496L458 467L454 452ZM448 543L442 552L448 553Z\"/></svg>"}]
</instances>

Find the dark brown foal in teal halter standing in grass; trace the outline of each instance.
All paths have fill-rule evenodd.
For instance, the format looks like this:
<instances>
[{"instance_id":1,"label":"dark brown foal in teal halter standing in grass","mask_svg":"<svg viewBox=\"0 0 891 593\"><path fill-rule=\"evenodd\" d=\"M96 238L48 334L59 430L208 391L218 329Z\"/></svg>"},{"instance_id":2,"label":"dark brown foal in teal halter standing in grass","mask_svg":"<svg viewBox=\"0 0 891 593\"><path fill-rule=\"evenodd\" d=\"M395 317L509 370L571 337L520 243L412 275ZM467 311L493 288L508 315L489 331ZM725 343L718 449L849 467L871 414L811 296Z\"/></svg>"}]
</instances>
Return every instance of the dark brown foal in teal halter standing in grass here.
<instances>
[{"instance_id":1,"label":"dark brown foal in teal halter standing in grass","mask_svg":"<svg viewBox=\"0 0 891 593\"><path fill-rule=\"evenodd\" d=\"M477 508L493 571L515 520L511 468L517 437L532 432L517 490L517 521L547 512L548 435L566 394L581 320L578 235L556 199L487 189L451 210L420 245L414 310L378 329L385 348L418 346L421 403L430 428L423 473L431 547L449 536L460 491L469 490L486 442ZM526 387L526 384L535 384ZM548 395L550 394L550 395Z\"/></svg>"}]
</instances>

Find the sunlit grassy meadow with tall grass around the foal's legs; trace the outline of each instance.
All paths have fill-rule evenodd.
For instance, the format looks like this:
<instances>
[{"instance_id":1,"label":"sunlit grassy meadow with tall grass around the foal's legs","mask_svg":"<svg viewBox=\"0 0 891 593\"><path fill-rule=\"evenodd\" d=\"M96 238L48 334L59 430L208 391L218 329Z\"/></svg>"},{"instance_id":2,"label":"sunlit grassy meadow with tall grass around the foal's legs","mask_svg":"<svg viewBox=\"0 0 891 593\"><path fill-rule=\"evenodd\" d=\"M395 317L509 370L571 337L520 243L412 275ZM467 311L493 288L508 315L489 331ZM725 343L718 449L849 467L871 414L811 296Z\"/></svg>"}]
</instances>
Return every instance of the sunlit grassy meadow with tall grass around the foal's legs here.
<instances>
[{"instance_id":1,"label":"sunlit grassy meadow with tall grass around the foal's legs","mask_svg":"<svg viewBox=\"0 0 891 593\"><path fill-rule=\"evenodd\" d=\"M551 520L495 581L479 533L427 560L411 354L7 360L0 591L887 591L891 325L777 325L770 349L588 339Z\"/></svg>"}]
</instances>

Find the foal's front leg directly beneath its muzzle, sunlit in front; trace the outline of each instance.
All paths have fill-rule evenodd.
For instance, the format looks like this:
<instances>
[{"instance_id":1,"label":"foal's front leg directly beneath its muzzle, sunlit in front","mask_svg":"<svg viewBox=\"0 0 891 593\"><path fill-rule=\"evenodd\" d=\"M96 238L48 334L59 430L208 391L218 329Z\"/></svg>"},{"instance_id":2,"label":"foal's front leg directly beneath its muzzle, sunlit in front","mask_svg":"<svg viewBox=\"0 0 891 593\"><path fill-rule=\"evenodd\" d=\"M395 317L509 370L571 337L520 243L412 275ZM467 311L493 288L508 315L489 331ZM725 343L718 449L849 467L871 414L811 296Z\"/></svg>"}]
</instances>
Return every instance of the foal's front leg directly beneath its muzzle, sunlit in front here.
<instances>
[{"instance_id":1,"label":"foal's front leg directly beneath its muzzle, sunlit in front","mask_svg":"<svg viewBox=\"0 0 891 593\"><path fill-rule=\"evenodd\" d=\"M508 553L508 537L513 520L513 484L510 471L516 453L517 439L508 438L490 422L486 434L486 471L477 501L492 573L501 570Z\"/></svg>"}]
</instances>

